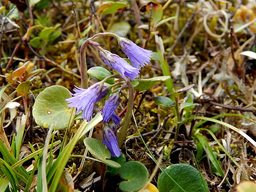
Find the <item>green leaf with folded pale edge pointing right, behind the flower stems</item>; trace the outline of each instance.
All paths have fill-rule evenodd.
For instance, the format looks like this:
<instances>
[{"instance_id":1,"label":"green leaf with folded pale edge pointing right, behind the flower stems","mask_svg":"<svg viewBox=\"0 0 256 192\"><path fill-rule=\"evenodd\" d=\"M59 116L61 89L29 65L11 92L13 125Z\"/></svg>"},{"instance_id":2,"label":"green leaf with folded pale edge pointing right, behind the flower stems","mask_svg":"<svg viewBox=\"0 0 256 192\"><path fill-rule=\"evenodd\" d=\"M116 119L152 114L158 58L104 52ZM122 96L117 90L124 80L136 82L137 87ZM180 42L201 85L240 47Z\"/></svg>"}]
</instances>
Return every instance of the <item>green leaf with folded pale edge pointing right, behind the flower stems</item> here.
<instances>
[{"instance_id":1,"label":"green leaf with folded pale edge pointing right, behind the flower stems","mask_svg":"<svg viewBox=\"0 0 256 192\"><path fill-rule=\"evenodd\" d=\"M159 76L159 77L153 77L149 79L136 79L136 81L139 82L139 85L134 87L137 91L143 91L152 88L154 85L161 81L166 81L170 79L170 76Z\"/></svg>"}]
</instances>

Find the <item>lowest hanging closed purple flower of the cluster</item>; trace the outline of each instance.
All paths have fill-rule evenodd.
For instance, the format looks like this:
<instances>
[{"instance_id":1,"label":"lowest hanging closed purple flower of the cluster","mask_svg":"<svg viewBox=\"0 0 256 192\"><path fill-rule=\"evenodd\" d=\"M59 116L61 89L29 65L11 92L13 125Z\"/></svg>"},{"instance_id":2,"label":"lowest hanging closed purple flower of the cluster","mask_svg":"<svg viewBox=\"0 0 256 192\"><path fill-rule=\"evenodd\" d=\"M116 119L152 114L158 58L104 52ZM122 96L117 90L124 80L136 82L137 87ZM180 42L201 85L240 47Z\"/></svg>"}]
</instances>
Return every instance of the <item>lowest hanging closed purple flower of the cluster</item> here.
<instances>
[{"instance_id":1,"label":"lowest hanging closed purple flower of the cluster","mask_svg":"<svg viewBox=\"0 0 256 192\"><path fill-rule=\"evenodd\" d=\"M117 144L117 130L113 121L104 123L102 143L109 149L111 156L120 156L120 150Z\"/></svg>"}]
</instances>

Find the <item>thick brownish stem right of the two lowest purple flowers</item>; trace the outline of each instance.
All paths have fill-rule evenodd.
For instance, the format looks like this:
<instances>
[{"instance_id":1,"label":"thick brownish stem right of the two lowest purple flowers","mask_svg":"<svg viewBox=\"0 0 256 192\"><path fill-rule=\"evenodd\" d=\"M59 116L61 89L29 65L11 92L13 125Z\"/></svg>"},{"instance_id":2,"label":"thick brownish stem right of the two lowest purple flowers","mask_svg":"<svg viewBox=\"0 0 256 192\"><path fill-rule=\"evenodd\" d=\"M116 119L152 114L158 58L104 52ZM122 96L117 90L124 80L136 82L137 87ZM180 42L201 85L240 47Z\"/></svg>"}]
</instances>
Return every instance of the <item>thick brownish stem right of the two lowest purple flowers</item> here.
<instances>
[{"instance_id":1,"label":"thick brownish stem right of the two lowest purple flowers","mask_svg":"<svg viewBox=\"0 0 256 192\"><path fill-rule=\"evenodd\" d=\"M123 126L120 128L120 132L118 135L118 146L121 147L124 137L126 135L126 131L128 129L130 123L130 117L132 116L133 112L133 85L130 83L129 80L126 81L128 88L129 88L129 98L127 103L127 110L126 116L123 119Z\"/></svg>"}]
</instances>

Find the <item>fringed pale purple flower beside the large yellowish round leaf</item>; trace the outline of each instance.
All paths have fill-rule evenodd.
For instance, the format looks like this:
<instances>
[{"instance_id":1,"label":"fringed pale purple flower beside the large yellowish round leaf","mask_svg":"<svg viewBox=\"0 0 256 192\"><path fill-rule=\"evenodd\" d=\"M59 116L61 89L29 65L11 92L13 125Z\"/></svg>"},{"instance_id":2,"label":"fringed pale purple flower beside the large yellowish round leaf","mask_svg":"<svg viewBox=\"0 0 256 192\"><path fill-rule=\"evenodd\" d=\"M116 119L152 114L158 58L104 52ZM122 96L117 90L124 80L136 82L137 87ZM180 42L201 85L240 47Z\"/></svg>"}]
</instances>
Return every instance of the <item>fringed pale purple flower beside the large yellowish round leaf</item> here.
<instances>
[{"instance_id":1,"label":"fringed pale purple flower beside the large yellowish round leaf","mask_svg":"<svg viewBox=\"0 0 256 192\"><path fill-rule=\"evenodd\" d=\"M75 92L75 94L71 93L73 97L66 99L70 103L68 107L76 107L76 114L83 111L82 118L90 121L92 119L93 106L107 95L109 88L106 86L101 88L99 83L95 83L88 89L76 87L73 91Z\"/></svg>"}]
</instances>

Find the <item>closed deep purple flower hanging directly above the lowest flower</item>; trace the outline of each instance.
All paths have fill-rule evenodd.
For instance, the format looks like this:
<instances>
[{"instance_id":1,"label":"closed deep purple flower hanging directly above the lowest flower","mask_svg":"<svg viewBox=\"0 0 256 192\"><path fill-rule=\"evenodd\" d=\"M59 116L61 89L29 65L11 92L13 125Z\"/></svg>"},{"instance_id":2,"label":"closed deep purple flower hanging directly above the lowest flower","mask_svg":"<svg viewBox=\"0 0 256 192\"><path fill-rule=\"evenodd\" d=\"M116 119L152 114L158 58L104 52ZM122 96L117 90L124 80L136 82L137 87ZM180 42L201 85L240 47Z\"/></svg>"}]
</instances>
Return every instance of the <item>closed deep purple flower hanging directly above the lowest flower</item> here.
<instances>
[{"instance_id":1,"label":"closed deep purple flower hanging directly above the lowest flower","mask_svg":"<svg viewBox=\"0 0 256 192\"><path fill-rule=\"evenodd\" d=\"M102 109L102 117L104 122L109 122L110 118L114 114L116 108L119 104L119 92L116 92L107 99L103 109Z\"/></svg>"}]
</instances>

